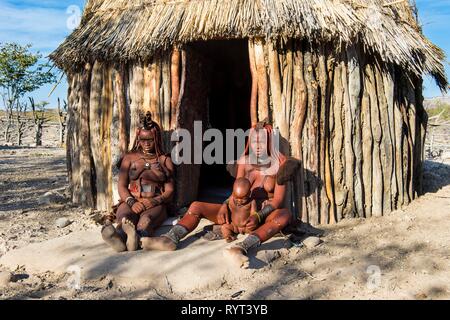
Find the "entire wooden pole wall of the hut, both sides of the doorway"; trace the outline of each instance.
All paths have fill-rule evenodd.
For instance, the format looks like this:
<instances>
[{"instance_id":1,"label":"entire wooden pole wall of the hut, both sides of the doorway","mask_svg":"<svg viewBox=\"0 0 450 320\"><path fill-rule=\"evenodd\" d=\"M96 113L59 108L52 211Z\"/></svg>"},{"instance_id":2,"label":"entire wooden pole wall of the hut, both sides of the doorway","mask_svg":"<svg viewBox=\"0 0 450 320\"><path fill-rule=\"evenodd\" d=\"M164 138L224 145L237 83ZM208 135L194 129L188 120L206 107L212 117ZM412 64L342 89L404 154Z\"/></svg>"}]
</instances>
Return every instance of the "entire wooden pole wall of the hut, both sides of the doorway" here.
<instances>
[{"instance_id":1,"label":"entire wooden pole wall of the hut, both sides of the doorway","mask_svg":"<svg viewBox=\"0 0 450 320\"><path fill-rule=\"evenodd\" d=\"M251 39L249 55L252 123L271 120L282 151L301 160L286 201L296 217L317 225L381 216L421 194L427 122L421 79L357 44ZM190 63L199 62L174 50L114 67L95 62L68 76L67 159L75 203L109 210L114 165L134 142L139 112L152 112L170 151L171 131L186 127L188 105L204 98ZM190 179L184 170L181 179ZM177 193L186 194L188 186L177 182Z\"/></svg>"}]
</instances>

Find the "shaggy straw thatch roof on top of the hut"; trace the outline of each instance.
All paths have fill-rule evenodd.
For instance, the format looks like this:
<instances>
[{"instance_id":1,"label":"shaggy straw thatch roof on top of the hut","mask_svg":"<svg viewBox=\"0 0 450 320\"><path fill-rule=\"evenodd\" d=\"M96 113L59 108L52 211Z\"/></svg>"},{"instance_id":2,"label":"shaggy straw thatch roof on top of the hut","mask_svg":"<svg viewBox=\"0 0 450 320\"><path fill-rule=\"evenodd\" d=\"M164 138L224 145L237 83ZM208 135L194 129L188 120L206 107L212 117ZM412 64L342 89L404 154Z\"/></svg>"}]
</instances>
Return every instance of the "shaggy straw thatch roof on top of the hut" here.
<instances>
[{"instance_id":1,"label":"shaggy straw thatch roof on top of the hut","mask_svg":"<svg viewBox=\"0 0 450 320\"><path fill-rule=\"evenodd\" d=\"M51 54L61 68L145 59L197 40L265 37L361 41L368 52L447 84L441 49L407 0L88 0L78 27Z\"/></svg>"}]
</instances>

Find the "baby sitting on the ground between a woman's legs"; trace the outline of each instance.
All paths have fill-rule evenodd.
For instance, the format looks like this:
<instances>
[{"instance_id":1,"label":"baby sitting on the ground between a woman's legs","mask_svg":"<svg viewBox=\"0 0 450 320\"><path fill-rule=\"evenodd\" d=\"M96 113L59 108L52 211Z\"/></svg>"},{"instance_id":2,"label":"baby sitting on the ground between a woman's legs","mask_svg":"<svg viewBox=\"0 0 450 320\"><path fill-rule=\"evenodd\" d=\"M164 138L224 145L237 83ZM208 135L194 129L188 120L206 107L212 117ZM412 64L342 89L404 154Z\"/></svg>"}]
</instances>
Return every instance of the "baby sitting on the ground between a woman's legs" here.
<instances>
[{"instance_id":1,"label":"baby sitting on the ground between a woman's legs","mask_svg":"<svg viewBox=\"0 0 450 320\"><path fill-rule=\"evenodd\" d=\"M251 200L251 183L246 178L236 179L233 185L233 194L231 195L228 208L231 211L231 223L224 224L221 227L223 238L227 242L237 239L237 234L250 233L246 221L250 215L256 212L256 201Z\"/></svg>"}]
</instances>

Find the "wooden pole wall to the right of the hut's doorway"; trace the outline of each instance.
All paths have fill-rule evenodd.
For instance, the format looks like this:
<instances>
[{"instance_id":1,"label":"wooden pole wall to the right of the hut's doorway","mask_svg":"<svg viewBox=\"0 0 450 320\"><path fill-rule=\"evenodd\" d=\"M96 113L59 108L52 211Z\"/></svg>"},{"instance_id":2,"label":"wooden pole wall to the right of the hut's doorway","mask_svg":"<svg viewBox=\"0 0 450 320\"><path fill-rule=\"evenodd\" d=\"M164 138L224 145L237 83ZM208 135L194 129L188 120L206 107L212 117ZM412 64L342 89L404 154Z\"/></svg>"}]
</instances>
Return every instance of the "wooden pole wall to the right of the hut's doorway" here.
<instances>
[{"instance_id":1,"label":"wooden pole wall to the right of the hut's doorway","mask_svg":"<svg viewBox=\"0 0 450 320\"><path fill-rule=\"evenodd\" d=\"M381 216L421 192L426 125L416 111L420 80L357 44L333 49L249 41L258 120L273 119L281 145L289 142L282 151L302 161L288 187L288 207L312 224ZM267 104L259 98L261 82L267 83Z\"/></svg>"}]
</instances>

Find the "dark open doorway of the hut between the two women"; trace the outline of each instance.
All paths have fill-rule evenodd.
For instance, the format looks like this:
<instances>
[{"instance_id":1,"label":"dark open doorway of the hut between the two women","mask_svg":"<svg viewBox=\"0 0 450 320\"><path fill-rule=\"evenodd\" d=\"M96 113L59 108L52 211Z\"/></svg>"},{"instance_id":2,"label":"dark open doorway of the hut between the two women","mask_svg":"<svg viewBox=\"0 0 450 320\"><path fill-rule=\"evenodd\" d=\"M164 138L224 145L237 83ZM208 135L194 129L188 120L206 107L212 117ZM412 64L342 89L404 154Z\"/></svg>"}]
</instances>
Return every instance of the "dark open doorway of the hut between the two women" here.
<instances>
[{"instance_id":1,"label":"dark open doorway of the hut between the two women","mask_svg":"<svg viewBox=\"0 0 450 320\"><path fill-rule=\"evenodd\" d=\"M194 44L202 56L208 88L208 120L225 137L226 129L250 127L251 74L246 40L209 41ZM204 130L207 124L203 125ZM225 146L224 146L225 147ZM225 149L223 150L225 155ZM231 193L234 178L225 164L203 164L199 200L221 202Z\"/></svg>"}]
</instances>

